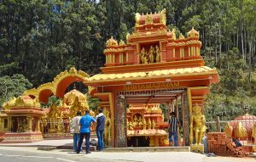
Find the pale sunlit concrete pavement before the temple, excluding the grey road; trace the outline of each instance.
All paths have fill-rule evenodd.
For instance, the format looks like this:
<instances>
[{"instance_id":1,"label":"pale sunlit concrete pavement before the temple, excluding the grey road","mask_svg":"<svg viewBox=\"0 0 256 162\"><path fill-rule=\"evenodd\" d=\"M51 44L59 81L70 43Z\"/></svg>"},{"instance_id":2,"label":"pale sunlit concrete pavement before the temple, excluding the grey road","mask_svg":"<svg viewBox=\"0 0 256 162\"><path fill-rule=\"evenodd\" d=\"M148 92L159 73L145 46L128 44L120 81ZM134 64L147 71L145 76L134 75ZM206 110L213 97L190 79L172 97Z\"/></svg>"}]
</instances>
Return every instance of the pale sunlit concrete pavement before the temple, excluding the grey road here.
<instances>
[{"instance_id":1,"label":"pale sunlit concrete pavement before the temple, excluding the grey road","mask_svg":"<svg viewBox=\"0 0 256 162\"><path fill-rule=\"evenodd\" d=\"M53 149L49 151L38 150L40 146L61 147L73 146L73 139L63 140L44 140L42 142L19 143L19 144L3 144L0 142L0 150L25 151L31 153L46 153L63 156L84 157L88 161L145 161L145 162L167 162L167 161L189 161L189 162L256 162L256 157L247 158L232 158L232 157L207 157L204 154L195 154L191 152L124 152L124 153L109 153L109 152L92 152L91 154L75 154L72 149ZM0 152L1 154L1 152ZM1 156L0 156L1 161Z\"/></svg>"}]
</instances>

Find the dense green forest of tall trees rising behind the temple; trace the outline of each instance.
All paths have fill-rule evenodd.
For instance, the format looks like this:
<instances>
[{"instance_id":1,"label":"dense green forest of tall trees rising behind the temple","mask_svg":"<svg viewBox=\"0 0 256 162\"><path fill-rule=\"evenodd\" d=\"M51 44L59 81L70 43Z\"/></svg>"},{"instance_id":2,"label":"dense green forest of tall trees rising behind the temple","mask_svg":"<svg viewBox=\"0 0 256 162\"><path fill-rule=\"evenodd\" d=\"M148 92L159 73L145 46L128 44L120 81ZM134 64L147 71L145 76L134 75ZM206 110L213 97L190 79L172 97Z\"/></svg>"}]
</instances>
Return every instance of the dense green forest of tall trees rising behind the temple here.
<instances>
[{"instance_id":1,"label":"dense green forest of tall trees rising behind the temple","mask_svg":"<svg viewBox=\"0 0 256 162\"><path fill-rule=\"evenodd\" d=\"M236 107L238 98L255 108L255 0L3 0L0 77L8 81L21 74L38 87L72 66L99 73L110 36L125 40L134 30L135 13L163 8L168 29L184 35L193 26L200 31L201 54L219 70L220 83L212 87L206 108Z\"/></svg>"}]
</instances>

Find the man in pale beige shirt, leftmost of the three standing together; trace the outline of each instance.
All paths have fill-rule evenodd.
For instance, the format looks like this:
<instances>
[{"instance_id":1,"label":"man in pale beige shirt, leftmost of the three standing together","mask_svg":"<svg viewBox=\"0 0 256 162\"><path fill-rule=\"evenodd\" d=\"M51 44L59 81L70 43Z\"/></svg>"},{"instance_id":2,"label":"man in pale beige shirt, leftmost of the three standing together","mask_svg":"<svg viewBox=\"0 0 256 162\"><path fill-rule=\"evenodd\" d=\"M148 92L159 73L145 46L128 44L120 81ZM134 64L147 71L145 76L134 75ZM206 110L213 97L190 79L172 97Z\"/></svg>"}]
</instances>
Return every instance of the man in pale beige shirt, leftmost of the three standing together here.
<instances>
[{"instance_id":1,"label":"man in pale beige shirt, leftmost of the three standing together","mask_svg":"<svg viewBox=\"0 0 256 162\"><path fill-rule=\"evenodd\" d=\"M70 121L70 133L73 134L73 150L77 150L80 139L80 126L79 121L81 119L81 111L77 112L77 116L73 117Z\"/></svg>"}]
</instances>

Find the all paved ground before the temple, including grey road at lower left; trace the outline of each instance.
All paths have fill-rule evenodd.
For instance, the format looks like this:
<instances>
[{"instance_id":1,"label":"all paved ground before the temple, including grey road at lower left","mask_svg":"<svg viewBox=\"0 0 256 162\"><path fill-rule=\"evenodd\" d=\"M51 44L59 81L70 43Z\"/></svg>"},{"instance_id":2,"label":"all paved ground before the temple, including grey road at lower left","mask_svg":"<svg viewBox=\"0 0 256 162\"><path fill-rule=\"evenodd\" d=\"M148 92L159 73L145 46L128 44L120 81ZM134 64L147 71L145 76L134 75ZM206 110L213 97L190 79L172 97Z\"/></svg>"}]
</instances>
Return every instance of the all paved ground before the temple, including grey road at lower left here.
<instances>
[{"instance_id":1,"label":"all paved ground before the temple, including grey road at lower left","mask_svg":"<svg viewBox=\"0 0 256 162\"><path fill-rule=\"evenodd\" d=\"M72 146L72 139L65 140L45 140L44 142L24 143L24 144L1 144L0 162L17 161L145 161L145 162L167 162L167 161L189 161L189 162L256 162L256 156L247 158L231 157L207 157L204 154L190 152L128 152L128 153L107 153L92 152L91 154L75 154L72 149L54 149L50 151L38 150L36 146ZM16 146L16 147L14 147ZM42 158L43 157L43 158ZM48 157L48 158L44 158ZM17 160L19 159L19 160Z\"/></svg>"}]
</instances>

